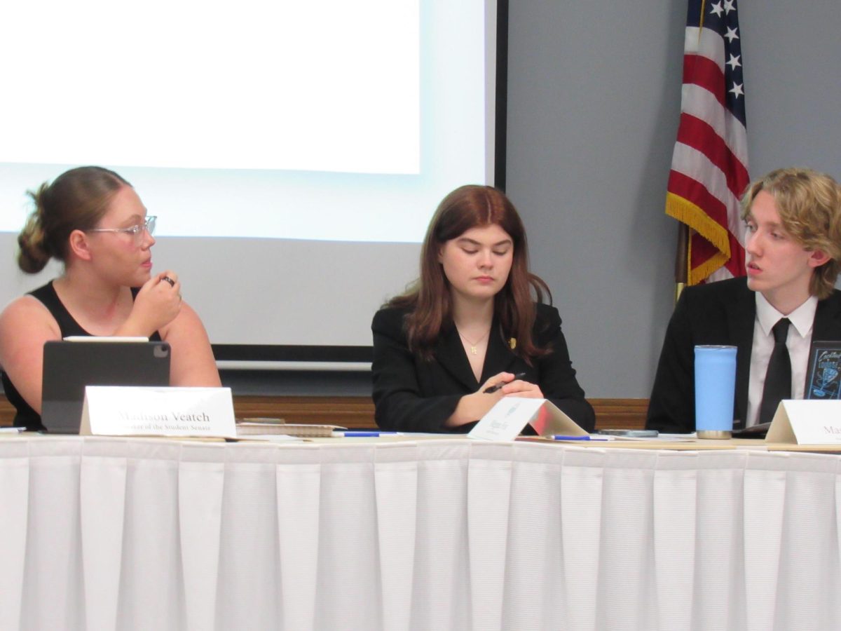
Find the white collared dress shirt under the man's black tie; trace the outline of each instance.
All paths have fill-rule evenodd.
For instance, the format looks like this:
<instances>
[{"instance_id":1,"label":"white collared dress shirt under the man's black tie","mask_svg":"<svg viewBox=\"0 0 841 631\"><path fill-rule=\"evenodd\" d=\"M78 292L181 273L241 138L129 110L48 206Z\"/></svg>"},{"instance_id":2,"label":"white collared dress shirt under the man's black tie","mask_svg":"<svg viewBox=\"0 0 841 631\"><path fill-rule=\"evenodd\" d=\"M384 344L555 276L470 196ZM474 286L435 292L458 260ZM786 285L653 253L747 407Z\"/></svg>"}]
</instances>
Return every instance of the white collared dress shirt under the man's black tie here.
<instances>
[{"instance_id":1,"label":"white collared dress shirt under the man's black tie","mask_svg":"<svg viewBox=\"0 0 841 631\"><path fill-rule=\"evenodd\" d=\"M750 353L750 382L748 384L748 418L746 427L759 422L759 406L762 404L762 390L768 361L774 350L774 333L771 331L780 318L791 321L785 346L791 358L791 398L802 399L806 391L806 369L809 361L809 347L812 344L812 325L815 323L817 297L809 299L783 315L771 306L764 295L756 292L756 320L754 321L754 346Z\"/></svg>"}]
</instances>

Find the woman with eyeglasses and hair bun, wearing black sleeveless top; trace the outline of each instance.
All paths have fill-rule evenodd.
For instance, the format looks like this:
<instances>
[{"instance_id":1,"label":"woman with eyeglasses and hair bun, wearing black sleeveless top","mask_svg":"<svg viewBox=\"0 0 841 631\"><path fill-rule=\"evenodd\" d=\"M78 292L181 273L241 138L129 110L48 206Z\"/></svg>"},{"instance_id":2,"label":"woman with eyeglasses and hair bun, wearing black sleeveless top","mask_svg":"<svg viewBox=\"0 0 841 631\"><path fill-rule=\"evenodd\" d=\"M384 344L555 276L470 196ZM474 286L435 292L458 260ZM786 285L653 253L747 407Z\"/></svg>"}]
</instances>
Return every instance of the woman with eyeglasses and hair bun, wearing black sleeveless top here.
<instances>
[{"instance_id":1,"label":"woman with eyeglasses and hair bun, wearing black sleeveless top","mask_svg":"<svg viewBox=\"0 0 841 631\"><path fill-rule=\"evenodd\" d=\"M18 265L64 273L0 314L3 389L14 424L38 430L44 343L67 336L140 336L169 342L172 385L219 386L207 332L181 299L172 270L152 273L156 217L135 189L102 167L79 167L29 192L34 211L18 236Z\"/></svg>"}]
</instances>

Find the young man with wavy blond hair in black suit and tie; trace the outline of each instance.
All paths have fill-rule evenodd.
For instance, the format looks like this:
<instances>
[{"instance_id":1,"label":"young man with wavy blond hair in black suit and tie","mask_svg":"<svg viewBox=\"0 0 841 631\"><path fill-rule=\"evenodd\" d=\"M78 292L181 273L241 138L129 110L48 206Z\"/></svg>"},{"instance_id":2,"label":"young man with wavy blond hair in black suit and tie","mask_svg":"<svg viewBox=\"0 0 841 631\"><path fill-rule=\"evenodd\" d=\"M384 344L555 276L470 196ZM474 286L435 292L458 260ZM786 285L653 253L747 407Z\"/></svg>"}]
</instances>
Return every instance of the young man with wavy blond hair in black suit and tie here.
<instances>
[{"instance_id":1,"label":"young man with wavy blond hair in black suit and tie","mask_svg":"<svg viewBox=\"0 0 841 631\"><path fill-rule=\"evenodd\" d=\"M648 428L695 431L696 345L737 347L738 428L770 421L780 399L802 399L812 340L841 340L841 292L834 289L841 269L838 183L810 169L778 169L748 186L742 218L748 276L681 294L654 378Z\"/></svg>"}]
</instances>

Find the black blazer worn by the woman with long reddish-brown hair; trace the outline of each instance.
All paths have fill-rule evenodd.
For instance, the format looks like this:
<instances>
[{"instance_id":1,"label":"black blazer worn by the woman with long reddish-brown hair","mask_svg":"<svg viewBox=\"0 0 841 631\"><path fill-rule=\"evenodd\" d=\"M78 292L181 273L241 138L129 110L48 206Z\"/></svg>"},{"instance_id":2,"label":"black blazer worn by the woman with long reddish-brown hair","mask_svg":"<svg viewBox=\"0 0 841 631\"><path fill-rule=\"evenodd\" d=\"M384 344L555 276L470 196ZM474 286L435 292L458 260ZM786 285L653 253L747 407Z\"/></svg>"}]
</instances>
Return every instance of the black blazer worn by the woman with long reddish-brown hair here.
<instances>
[{"instance_id":1,"label":"black blazer worn by the woman with long reddish-brown hair","mask_svg":"<svg viewBox=\"0 0 841 631\"><path fill-rule=\"evenodd\" d=\"M525 373L524 380L539 385L547 399L585 430L593 431L595 413L575 380L561 317L554 307L537 305L535 343L542 348L552 347L553 352L534 360L532 366L511 351L495 318L479 381L452 322L442 329L431 359L410 353L404 328L406 313L382 309L373 316L371 324L374 416L379 427L405 432L468 432L473 423L447 428L444 422L463 395L473 394L485 380L506 371Z\"/></svg>"}]
</instances>

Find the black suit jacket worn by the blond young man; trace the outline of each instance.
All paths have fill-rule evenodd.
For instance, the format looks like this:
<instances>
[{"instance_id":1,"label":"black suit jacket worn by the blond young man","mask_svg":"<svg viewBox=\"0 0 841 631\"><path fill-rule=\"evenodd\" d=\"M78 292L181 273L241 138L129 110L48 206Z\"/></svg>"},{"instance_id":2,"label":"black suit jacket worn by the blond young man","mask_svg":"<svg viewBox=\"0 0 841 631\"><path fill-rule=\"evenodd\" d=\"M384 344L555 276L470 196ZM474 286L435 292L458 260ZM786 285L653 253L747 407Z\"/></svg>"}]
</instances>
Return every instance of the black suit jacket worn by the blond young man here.
<instances>
[{"instance_id":1,"label":"black suit jacket worn by the blond young man","mask_svg":"<svg viewBox=\"0 0 841 631\"><path fill-rule=\"evenodd\" d=\"M750 354L754 345L756 294L746 278L687 287L669 321L648 403L646 427L695 432L695 347L737 347L733 418L748 413ZM841 340L841 292L817 303L812 340Z\"/></svg>"}]
</instances>

